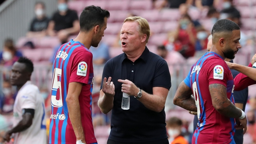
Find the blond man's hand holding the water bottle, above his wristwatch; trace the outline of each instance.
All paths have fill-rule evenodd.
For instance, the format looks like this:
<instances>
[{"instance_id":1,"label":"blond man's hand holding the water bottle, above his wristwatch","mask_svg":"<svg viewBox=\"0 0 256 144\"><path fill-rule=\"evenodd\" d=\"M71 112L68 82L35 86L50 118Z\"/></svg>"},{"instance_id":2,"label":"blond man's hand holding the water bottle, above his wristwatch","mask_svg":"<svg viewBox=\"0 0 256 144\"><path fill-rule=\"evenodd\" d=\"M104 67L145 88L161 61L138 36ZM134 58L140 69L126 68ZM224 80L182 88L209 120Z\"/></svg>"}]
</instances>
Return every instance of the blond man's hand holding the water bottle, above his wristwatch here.
<instances>
[{"instance_id":1,"label":"blond man's hand holding the water bottle, above his wristwatch","mask_svg":"<svg viewBox=\"0 0 256 144\"><path fill-rule=\"evenodd\" d=\"M129 96L137 96L137 93L139 92L139 88L137 86L129 81L129 80L117 80L118 82L122 82L122 92L129 94Z\"/></svg>"}]
</instances>

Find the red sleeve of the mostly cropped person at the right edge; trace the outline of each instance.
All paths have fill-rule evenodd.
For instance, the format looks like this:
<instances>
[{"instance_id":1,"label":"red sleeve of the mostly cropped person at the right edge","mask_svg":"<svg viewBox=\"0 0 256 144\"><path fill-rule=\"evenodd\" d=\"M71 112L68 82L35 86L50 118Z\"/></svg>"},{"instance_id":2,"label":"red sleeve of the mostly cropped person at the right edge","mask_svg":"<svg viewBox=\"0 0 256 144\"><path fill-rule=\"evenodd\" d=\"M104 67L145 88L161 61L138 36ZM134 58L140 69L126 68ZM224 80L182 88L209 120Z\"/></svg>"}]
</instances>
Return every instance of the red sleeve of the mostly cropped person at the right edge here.
<instances>
[{"instance_id":1,"label":"red sleeve of the mostly cropped person at the right edge","mask_svg":"<svg viewBox=\"0 0 256 144\"><path fill-rule=\"evenodd\" d=\"M248 67L252 67L250 63ZM245 89L246 87L256 84L256 81L244 75L243 73L239 73L234 79L235 89L236 91Z\"/></svg>"}]
</instances>

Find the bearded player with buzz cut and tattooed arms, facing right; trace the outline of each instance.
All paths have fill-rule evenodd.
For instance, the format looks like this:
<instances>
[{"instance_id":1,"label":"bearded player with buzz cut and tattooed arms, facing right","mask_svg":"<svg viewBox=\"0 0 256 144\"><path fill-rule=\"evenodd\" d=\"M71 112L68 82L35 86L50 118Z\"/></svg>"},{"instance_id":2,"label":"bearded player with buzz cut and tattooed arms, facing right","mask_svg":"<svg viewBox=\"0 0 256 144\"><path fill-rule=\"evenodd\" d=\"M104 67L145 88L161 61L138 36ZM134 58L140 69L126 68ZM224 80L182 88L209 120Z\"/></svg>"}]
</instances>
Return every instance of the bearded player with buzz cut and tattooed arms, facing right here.
<instances>
[{"instance_id":1,"label":"bearded player with buzz cut and tattooed arms, facing right","mask_svg":"<svg viewBox=\"0 0 256 144\"><path fill-rule=\"evenodd\" d=\"M240 28L223 19L214 24L211 34L210 52L192 66L173 103L197 111L199 122L192 144L235 144L235 129L244 128L245 133L247 119L244 111L234 105L234 80L224 59L234 59L241 48Z\"/></svg>"}]
</instances>

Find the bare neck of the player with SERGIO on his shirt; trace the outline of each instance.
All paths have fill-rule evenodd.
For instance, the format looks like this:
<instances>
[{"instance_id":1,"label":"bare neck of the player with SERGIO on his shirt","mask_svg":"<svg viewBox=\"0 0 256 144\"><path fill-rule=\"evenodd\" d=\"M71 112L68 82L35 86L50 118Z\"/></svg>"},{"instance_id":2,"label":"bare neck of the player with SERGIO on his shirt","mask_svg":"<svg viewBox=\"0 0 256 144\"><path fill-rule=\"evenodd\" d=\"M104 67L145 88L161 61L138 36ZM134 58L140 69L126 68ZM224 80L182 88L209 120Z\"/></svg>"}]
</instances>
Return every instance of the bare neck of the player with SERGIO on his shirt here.
<instances>
[{"instance_id":1,"label":"bare neck of the player with SERGIO on his shirt","mask_svg":"<svg viewBox=\"0 0 256 144\"><path fill-rule=\"evenodd\" d=\"M92 43L92 35L91 33L83 33L80 31L74 41L82 43L86 48L89 49Z\"/></svg>"}]
</instances>

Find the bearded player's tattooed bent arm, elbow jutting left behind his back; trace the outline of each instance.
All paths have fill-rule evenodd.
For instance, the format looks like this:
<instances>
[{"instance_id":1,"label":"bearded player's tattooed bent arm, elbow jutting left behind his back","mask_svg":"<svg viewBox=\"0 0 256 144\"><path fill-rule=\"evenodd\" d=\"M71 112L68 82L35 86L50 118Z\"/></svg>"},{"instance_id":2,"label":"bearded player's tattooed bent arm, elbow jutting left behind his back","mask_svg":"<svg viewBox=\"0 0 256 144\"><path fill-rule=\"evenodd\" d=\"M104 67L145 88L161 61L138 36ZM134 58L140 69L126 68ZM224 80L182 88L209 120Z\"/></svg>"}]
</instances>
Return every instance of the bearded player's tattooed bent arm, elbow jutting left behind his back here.
<instances>
[{"instance_id":1,"label":"bearded player's tattooed bent arm, elbow jutting left behind his back","mask_svg":"<svg viewBox=\"0 0 256 144\"><path fill-rule=\"evenodd\" d=\"M196 102L191 94L192 90L182 81L176 91L174 104L186 110L197 111Z\"/></svg>"}]
</instances>

